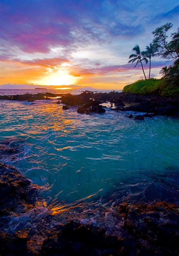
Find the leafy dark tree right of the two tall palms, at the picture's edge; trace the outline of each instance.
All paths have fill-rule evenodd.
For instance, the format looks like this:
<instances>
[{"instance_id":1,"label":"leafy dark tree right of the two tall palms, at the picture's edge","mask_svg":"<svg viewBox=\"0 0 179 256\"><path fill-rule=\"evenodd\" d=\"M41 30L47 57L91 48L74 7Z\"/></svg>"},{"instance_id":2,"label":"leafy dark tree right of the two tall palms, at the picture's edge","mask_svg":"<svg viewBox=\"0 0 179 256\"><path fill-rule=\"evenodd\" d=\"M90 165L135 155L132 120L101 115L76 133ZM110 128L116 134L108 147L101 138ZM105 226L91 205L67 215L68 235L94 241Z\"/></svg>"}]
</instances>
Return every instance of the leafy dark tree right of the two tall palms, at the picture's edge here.
<instances>
[{"instance_id":1,"label":"leafy dark tree right of the two tall palms, at the picture's edge","mask_svg":"<svg viewBox=\"0 0 179 256\"><path fill-rule=\"evenodd\" d=\"M156 28L152 34L154 35L153 44L159 51L159 56L173 61L179 57L179 28L176 33L171 34L171 41L168 42L167 32L172 28L172 23L166 23Z\"/></svg>"}]
</instances>

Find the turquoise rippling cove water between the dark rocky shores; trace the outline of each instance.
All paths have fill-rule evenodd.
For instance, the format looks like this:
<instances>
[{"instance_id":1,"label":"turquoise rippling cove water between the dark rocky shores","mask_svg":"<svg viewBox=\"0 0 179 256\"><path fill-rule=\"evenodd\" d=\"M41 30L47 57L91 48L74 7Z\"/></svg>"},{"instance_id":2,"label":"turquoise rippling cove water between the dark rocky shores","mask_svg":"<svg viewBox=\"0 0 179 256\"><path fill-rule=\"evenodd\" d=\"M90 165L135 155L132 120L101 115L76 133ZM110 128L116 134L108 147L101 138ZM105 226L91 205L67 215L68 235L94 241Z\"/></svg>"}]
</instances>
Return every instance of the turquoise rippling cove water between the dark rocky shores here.
<instances>
[{"instance_id":1,"label":"turquoise rippling cove water between the dark rocky shores","mask_svg":"<svg viewBox=\"0 0 179 256\"><path fill-rule=\"evenodd\" d=\"M179 168L179 119L137 121L110 109L82 115L56 101L0 101L0 143L19 150L1 161L48 188L47 201L112 202L120 185L131 192Z\"/></svg>"}]
</instances>

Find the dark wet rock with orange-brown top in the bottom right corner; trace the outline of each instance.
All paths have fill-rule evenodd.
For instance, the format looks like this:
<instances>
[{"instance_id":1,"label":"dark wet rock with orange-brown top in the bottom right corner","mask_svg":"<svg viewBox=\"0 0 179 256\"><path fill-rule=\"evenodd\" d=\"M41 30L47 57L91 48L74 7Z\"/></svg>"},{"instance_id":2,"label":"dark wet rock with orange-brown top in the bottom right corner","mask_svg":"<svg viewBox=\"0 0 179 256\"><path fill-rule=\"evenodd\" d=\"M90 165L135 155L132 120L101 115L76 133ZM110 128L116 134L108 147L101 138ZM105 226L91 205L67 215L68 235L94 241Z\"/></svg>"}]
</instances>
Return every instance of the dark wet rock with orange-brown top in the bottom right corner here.
<instances>
[{"instance_id":1,"label":"dark wet rock with orange-brown top in the bottom right corner","mask_svg":"<svg viewBox=\"0 0 179 256\"><path fill-rule=\"evenodd\" d=\"M112 216L123 218L121 230L130 236L128 245L133 243L134 255L177 255L177 207L166 202L123 203L113 209Z\"/></svg>"}]
</instances>

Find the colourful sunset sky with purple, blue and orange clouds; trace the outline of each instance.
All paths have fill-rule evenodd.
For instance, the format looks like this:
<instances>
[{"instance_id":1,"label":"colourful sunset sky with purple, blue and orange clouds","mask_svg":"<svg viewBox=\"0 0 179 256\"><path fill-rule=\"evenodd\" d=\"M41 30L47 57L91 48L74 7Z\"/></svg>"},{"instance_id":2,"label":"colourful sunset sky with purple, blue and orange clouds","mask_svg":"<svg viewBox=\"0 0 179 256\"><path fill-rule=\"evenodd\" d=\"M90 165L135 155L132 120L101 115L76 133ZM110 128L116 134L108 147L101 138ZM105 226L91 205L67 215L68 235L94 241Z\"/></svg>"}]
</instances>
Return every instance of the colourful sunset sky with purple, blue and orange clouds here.
<instances>
[{"instance_id":1,"label":"colourful sunset sky with purple, blue and orange clouds","mask_svg":"<svg viewBox=\"0 0 179 256\"><path fill-rule=\"evenodd\" d=\"M145 50L167 22L176 32L178 0L0 0L0 88L122 89L143 78L140 65L127 64L132 48ZM151 65L160 78L170 63Z\"/></svg>"}]
</instances>

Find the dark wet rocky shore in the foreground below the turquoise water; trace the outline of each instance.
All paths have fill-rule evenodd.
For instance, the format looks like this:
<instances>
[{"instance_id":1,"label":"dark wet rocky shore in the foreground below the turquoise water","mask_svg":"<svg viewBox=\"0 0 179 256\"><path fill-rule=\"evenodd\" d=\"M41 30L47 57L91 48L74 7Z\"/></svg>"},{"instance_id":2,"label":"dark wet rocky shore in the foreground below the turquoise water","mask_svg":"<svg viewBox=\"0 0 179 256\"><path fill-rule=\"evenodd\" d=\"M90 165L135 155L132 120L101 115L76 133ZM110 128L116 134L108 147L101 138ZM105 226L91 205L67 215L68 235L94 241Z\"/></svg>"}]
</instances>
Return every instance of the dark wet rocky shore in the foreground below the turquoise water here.
<instances>
[{"instance_id":1,"label":"dark wet rocky shore in the foreground below the turquoise water","mask_svg":"<svg viewBox=\"0 0 179 256\"><path fill-rule=\"evenodd\" d=\"M178 255L177 185L150 184L121 203L116 200L102 213L102 227L78 218L58 223L39 196L40 189L14 167L0 164L2 255ZM28 220L32 212L34 219ZM21 218L24 214L27 220ZM12 216L19 218L14 231L8 230Z\"/></svg>"}]
</instances>

